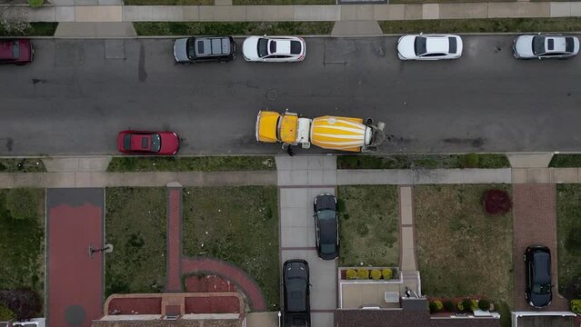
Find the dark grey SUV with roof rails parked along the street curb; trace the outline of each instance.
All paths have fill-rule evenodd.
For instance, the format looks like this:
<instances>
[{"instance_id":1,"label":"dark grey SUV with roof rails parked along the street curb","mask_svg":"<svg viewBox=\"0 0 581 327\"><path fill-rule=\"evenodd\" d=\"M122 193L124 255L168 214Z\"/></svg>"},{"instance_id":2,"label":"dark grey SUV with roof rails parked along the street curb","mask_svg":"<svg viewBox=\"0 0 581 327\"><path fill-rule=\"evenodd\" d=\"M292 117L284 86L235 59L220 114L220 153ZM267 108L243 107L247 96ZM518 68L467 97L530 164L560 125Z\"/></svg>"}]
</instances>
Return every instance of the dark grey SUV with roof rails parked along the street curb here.
<instances>
[{"instance_id":1,"label":"dark grey SUV with roof rails parked along the street curb","mask_svg":"<svg viewBox=\"0 0 581 327\"><path fill-rule=\"evenodd\" d=\"M174 58L179 64L227 62L236 57L232 36L195 36L175 40Z\"/></svg>"}]
</instances>

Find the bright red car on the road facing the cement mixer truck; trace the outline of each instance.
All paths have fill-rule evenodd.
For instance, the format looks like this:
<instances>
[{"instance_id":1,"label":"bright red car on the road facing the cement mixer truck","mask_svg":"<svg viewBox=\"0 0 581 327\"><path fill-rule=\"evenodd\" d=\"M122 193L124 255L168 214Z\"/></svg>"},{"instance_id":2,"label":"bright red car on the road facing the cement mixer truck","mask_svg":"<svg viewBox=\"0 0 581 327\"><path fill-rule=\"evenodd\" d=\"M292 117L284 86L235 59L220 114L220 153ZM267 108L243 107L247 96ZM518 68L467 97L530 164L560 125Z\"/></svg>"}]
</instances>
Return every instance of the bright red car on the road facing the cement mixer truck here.
<instances>
[{"instance_id":1,"label":"bright red car on the road facing the cement mixer truck","mask_svg":"<svg viewBox=\"0 0 581 327\"><path fill-rule=\"evenodd\" d=\"M177 154L179 136L174 132L122 131L117 149L124 154Z\"/></svg>"}]
</instances>

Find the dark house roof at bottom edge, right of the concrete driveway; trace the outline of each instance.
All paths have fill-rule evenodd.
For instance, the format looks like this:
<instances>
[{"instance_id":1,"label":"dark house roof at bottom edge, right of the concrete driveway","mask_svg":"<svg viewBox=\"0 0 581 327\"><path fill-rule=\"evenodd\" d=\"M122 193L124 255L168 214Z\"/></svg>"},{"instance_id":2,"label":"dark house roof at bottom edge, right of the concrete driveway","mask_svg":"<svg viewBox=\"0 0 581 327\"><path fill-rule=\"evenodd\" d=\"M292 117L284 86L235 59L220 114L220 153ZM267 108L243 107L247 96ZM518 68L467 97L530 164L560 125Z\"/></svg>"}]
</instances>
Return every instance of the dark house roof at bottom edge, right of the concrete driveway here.
<instances>
[{"instance_id":1,"label":"dark house roof at bottom edge, right of the concrete driveway","mask_svg":"<svg viewBox=\"0 0 581 327\"><path fill-rule=\"evenodd\" d=\"M337 310L336 327L500 327L499 319L430 318L428 311Z\"/></svg>"}]
</instances>

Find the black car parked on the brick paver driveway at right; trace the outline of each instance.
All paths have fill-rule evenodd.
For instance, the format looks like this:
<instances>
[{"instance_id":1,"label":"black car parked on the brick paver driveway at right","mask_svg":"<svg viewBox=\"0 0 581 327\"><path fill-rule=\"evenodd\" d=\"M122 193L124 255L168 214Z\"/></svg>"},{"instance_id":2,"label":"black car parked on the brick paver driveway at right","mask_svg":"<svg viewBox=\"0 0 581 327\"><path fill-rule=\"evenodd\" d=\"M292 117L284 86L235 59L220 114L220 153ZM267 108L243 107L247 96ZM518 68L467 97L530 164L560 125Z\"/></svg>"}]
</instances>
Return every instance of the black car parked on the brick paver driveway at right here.
<instances>
[{"instance_id":1,"label":"black car parked on the brick paver driveway at right","mask_svg":"<svg viewBox=\"0 0 581 327\"><path fill-rule=\"evenodd\" d=\"M551 252L546 246L536 245L526 248L526 292L528 304L543 308L553 300L551 285Z\"/></svg>"}]
</instances>

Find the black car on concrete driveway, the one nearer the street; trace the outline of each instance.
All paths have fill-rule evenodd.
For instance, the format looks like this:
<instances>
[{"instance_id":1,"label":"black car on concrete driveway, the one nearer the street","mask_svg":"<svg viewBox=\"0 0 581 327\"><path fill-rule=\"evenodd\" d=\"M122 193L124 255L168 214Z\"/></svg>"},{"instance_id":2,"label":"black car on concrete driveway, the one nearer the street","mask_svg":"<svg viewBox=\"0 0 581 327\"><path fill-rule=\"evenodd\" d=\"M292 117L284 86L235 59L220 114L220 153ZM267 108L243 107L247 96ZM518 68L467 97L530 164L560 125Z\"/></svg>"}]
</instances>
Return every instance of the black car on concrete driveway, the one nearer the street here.
<instances>
[{"instance_id":1,"label":"black car on concrete driveway, the one nearer the street","mask_svg":"<svg viewBox=\"0 0 581 327\"><path fill-rule=\"evenodd\" d=\"M339 256L339 219L337 200L333 194L323 193L315 198L316 251L323 260Z\"/></svg>"}]
</instances>

